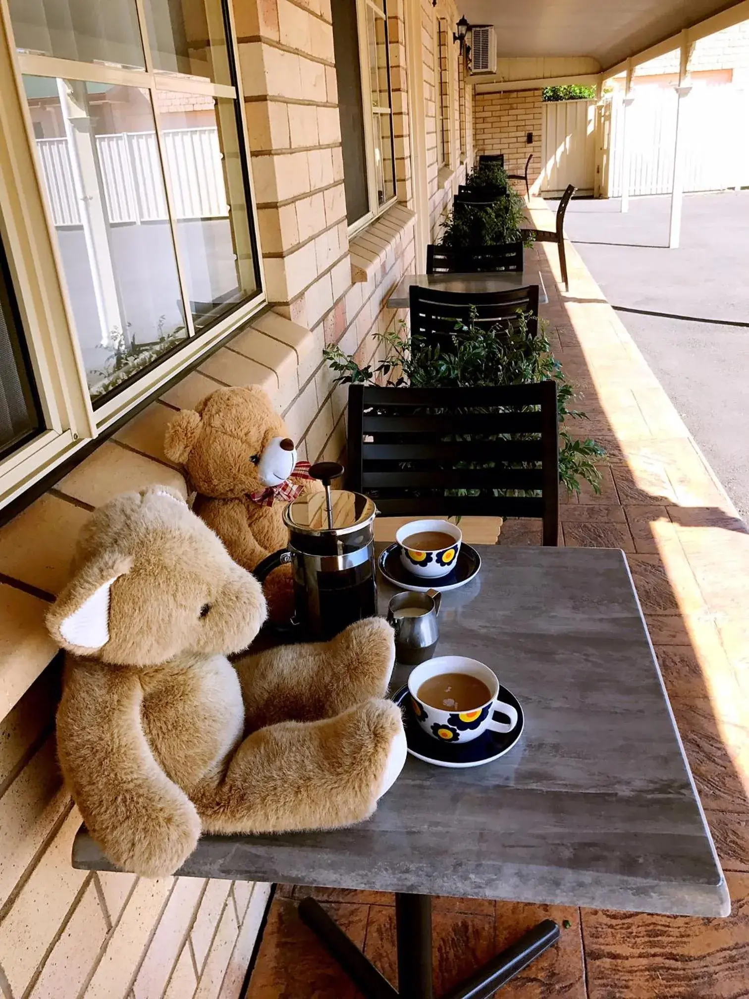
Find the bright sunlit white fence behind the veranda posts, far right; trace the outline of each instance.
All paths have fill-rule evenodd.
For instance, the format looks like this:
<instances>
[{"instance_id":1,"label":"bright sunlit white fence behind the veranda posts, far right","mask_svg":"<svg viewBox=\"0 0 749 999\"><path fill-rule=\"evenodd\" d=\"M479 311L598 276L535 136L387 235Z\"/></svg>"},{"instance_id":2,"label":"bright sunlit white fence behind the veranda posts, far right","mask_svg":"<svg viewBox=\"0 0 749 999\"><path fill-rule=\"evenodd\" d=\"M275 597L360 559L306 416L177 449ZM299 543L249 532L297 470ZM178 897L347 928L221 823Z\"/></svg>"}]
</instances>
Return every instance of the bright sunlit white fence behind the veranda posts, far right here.
<instances>
[{"instance_id":1,"label":"bright sunlit white fence behind the veranda posts, far right","mask_svg":"<svg viewBox=\"0 0 749 999\"><path fill-rule=\"evenodd\" d=\"M676 92L643 87L627 111L631 195L668 194L673 186ZM685 191L720 191L749 185L749 90L733 84L695 86L683 99ZM624 108L611 104L608 196L622 191Z\"/></svg>"}]
</instances>

